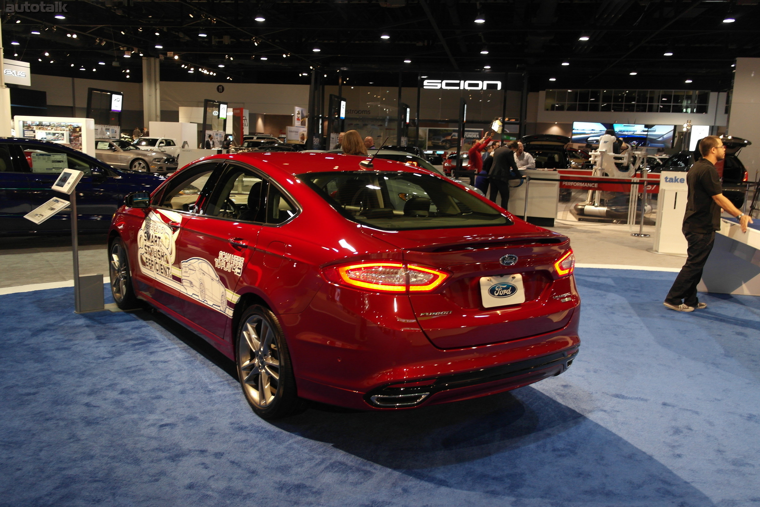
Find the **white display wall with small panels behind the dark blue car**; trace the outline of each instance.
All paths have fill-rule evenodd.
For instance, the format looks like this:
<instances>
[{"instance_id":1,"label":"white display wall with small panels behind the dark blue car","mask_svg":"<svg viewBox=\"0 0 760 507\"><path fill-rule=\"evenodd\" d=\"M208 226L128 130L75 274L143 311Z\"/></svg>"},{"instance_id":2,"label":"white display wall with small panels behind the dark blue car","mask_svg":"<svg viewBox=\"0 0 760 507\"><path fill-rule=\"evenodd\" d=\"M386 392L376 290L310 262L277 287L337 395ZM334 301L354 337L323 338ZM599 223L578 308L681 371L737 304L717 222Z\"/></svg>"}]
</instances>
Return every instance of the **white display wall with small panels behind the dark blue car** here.
<instances>
[{"instance_id":1,"label":"white display wall with small panels behind the dark blue car","mask_svg":"<svg viewBox=\"0 0 760 507\"><path fill-rule=\"evenodd\" d=\"M14 116L16 135L65 144L95 156L95 120L58 116Z\"/></svg>"}]
</instances>

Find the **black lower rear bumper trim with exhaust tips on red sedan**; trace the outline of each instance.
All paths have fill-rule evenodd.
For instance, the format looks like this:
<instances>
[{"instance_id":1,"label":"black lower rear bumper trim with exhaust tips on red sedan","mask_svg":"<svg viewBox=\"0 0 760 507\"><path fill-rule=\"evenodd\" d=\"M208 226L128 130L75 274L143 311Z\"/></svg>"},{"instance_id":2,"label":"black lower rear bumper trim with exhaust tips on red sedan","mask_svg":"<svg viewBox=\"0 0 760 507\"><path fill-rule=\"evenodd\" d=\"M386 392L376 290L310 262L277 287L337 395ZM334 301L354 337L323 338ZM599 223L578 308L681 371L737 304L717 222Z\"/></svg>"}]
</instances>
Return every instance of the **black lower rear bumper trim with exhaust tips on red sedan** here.
<instances>
[{"instance_id":1,"label":"black lower rear bumper trim with exhaust tips on red sedan","mask_svg":"<svg viewBox=\"0 0 760 507\"><path fill-rule=\"evenodd\" d=\"M369 391L364 395L364 401L372 407L387 409L492 395L559 375L568 369L576 356L578 347L474 372L384 385Z\"/></svg>"}]
</instances>

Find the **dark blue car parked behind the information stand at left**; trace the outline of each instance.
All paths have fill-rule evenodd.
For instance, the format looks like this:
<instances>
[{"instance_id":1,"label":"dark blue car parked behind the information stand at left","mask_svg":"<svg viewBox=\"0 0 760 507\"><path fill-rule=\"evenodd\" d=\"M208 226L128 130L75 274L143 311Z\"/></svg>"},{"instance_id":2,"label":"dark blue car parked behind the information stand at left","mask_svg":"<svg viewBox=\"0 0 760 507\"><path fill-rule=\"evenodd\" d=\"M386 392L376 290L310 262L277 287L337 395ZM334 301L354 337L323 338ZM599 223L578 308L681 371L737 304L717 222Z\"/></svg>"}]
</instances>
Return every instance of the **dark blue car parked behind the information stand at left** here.
<instances>
[{"instance_id":1,"label":"dark blue car parked behind the information stand at left","mask_svg":"<svg viewBox=\"0 0 760 507\"><path fill-rule=\"evenodd\" d=\"M34 139L0 139L0 236L60 234L71 230L71 214L55 214L36 225L24 218L53 197L50 187L62 168L84 171L77 185L79 230L106 233L111 216L130 192L153 192L165 179L157 174L115 169L62 144Z\"/></svg>"}]
</instances>

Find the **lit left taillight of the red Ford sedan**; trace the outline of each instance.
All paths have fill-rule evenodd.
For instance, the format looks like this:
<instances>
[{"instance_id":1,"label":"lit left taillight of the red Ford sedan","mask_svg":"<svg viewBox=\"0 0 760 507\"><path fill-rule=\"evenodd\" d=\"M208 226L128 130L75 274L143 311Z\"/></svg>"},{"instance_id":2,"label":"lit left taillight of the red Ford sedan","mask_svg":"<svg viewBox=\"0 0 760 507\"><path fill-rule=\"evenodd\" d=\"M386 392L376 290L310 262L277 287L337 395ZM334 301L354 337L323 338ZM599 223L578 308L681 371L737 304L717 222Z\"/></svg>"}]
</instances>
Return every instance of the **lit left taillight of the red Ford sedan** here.
<instances>
[{"instance_id":1,"label":"lit left taillight of the red Ford sedan","mask_svg":"<svg viewBox=\"0 0 760 507\"><path fill-rule=\"evenodd\" d=\"M429 292L448 278L448 273L401 262L365 262L325 268L334 284L373 292Z\"/></svg>"}]
</instances>

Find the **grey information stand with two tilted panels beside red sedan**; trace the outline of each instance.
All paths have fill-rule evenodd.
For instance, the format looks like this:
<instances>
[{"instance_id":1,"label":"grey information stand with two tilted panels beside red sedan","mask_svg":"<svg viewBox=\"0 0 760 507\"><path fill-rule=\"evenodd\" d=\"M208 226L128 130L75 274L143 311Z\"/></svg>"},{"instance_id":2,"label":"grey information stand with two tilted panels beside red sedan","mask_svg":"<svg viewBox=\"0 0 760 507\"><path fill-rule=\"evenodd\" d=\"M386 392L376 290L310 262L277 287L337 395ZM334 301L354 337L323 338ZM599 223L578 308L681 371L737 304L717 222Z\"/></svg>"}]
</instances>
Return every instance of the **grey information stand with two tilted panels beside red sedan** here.
<instances>
[{"instance_id":1,"label":"grey information stand with two tilted panels beside red sedan","mask_svg":"<svg viewBox=\"0 0 760 507\"><path fill-rule=\"evenodd\" d=\"M74 262L74 313L100 312L105 309L103 297L103 274L79 275L79 242L77 228L77 183L81 171L64 169L51 189L71 195L71 201L54 197L45 204L24 215L34 223L43 223L71 204L71 258Z\"/></svg>"}]
</instances>

